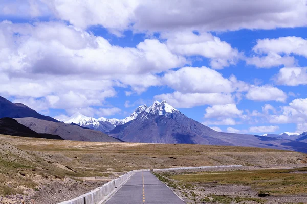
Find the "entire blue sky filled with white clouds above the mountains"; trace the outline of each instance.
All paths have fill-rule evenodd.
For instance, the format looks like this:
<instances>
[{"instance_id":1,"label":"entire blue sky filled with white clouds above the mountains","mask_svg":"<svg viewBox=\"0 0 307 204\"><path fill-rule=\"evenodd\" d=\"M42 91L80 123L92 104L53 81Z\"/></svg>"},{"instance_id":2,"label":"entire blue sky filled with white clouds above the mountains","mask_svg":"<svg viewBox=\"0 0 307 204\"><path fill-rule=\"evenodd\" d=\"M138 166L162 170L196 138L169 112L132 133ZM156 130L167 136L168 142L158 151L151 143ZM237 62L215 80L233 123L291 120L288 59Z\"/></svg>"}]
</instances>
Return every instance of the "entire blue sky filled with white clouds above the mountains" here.
<instances>
[{"instance_id":1,"label":"entire blue sky filled with white clouds above the mountains","mask_svg":"<svg viewBox=\"0 0 307 204\"><path fill-rule=\"evenodd\" d=\"M0 95L65 119L166 100L217 131L307 130L307 0L0 0Z\"/></svg>"}]
</instances>

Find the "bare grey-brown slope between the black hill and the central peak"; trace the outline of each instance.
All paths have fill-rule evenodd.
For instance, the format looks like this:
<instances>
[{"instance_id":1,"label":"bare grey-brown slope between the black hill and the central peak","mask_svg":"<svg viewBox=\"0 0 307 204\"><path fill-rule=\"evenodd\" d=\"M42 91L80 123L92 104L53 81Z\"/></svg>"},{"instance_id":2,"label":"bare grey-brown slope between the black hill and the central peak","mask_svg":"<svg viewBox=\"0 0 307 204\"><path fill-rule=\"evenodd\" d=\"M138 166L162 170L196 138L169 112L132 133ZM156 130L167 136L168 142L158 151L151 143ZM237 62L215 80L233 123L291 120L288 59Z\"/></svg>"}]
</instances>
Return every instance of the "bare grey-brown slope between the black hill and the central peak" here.
<instances>
[{"instance_id":1,"label":"bare grey-brown slope between the black hill and the central peak","mask_svg":"<svg viewBox=\"0 0 307 204\"><path fill-rule=\"evenodd\" d=\"M37 118L16 118L16 120L37 133L55 134L64 140L92 141L92 142L120 142L120 140L78 125L40 120Z\"/></svg>"}]
</instances>

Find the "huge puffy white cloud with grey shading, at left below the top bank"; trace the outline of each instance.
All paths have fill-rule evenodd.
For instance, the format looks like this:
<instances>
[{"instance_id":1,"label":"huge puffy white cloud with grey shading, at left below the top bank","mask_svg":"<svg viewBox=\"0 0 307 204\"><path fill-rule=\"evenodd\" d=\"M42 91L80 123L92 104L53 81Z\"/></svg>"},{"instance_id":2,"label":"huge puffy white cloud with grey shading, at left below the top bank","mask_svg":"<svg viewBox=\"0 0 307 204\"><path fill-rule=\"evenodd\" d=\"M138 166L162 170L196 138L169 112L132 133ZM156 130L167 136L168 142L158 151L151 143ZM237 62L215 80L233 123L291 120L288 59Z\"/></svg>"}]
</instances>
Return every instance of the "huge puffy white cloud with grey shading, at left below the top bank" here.
<instances>
[{"instance_id":1,"label":"huge puffy white cloud with grey shading, at left below the top bank","mask_svg":"<svg viewBox=\"0 0 307 204\"><path fill-rule=\"evenodd\" d=\"M86 70L87 74L123 76L159 73L186 63L184 57L172 54L156 39L145 39L136 48L123 48L60 22L2 22L0 31L4 36L0 40L5 42L0 44L6 45L2 52L11 56L9 61L2 60L1 67L11 72L65 75Z\"/></svg>"}]
</instances>

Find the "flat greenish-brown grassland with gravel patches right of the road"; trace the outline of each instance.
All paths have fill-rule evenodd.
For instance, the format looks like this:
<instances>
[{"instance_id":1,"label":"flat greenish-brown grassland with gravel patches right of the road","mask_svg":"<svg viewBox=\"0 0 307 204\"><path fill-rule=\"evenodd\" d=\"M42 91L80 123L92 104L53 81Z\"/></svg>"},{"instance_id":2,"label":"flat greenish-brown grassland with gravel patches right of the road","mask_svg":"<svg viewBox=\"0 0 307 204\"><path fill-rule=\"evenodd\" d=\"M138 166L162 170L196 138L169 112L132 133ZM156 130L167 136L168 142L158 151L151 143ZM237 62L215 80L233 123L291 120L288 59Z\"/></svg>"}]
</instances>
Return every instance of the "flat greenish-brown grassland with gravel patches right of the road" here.
<instances>
[{"instance_id":1,"label":"flat greenish-brown grassland with gravel patches right of the road","mask_svg":"<svg viewBox=\"0 0 307 204\"><path fill-rule=\"evenodd\" d=\"M307 167L155 175L188 203L307 203Z\"/></svg>"}]
</instances>

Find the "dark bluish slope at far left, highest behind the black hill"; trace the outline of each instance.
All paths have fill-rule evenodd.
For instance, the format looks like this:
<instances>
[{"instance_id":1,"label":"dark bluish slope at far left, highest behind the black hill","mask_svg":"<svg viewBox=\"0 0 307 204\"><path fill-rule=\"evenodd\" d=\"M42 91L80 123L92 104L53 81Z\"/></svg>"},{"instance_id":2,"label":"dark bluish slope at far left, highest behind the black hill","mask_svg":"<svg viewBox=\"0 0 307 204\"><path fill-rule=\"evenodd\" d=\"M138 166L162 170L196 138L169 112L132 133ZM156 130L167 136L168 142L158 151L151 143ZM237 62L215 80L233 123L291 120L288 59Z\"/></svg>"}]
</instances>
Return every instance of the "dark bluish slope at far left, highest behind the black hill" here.
<instances>
[{"instance_id":1,"label":"dark bluish slope at far left, highest behind the black hill","mask_svg":"<svg viewBox=\"0 0 307 204\"><path fill-rule=\"evenodd\" d=\"M25 117L33 117L41 120L48 120L53 122L58 122L56 119L44 116L28 106L21 103L12 103L7 99L0 96L0 118L9 117L9 118L25 118Z\"/></svg>"}]
</instances>

